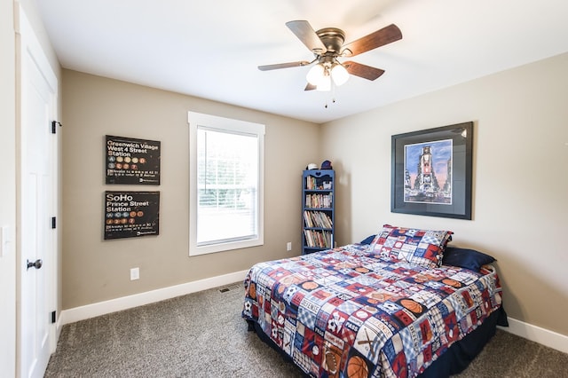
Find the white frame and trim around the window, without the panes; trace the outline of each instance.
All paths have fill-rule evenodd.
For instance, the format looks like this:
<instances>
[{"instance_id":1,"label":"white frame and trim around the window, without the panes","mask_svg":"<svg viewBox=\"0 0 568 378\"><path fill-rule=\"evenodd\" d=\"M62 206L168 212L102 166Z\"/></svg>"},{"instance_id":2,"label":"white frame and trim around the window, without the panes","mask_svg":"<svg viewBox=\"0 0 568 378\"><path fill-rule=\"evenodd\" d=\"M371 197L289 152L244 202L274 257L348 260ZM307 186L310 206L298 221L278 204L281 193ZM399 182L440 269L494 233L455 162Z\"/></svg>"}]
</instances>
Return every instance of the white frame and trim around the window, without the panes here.
<instances>
[{"instance_id":1,"label":"white frame and trim around the window, without the panes","mask_svg":"<svg viewBox=\"0 0 568 378\"><path fill-rule=\"evenodd\" d=\"M262 246L264 244L264 124L195 112L187 112L187 122L189 124L189 256ZM258 195L256 199L258 235L256 238L197 245L197 130L199 127L221 132L246 133L258 138Z\"/></svg>"}]
</instances>

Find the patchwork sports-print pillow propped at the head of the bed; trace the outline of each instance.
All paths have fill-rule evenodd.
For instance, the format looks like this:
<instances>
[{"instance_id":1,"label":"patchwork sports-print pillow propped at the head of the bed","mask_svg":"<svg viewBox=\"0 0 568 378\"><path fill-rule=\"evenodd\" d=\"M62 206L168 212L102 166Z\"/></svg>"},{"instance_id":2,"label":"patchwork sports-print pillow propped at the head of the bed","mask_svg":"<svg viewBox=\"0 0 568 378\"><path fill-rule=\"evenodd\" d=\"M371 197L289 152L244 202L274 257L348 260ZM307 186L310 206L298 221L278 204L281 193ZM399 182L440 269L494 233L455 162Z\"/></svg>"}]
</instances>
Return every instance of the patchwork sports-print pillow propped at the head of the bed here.
<instances>
[{"instance_id":1,"label":"patchwork sports-print pillow propped at the head of the bed","mask_svg":"<svg viewBox=\"0 0 568 378\"><path fill-rule=\"evenodd\" d=\"M452 240L453 233L384 224L383 230L376 234L368 250L381 256L435 268L442 264L444 248Z\"/></svg>"}]
</instances>

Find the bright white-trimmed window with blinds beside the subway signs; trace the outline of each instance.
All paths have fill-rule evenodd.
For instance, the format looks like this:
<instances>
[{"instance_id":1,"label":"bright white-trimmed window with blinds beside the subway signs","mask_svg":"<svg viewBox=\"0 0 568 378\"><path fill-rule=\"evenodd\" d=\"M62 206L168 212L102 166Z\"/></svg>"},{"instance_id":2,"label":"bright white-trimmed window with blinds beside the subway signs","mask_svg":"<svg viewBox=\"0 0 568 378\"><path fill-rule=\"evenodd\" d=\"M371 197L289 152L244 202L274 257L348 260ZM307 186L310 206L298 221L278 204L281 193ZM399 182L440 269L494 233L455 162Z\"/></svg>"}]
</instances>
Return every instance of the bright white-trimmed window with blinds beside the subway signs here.
<instances>
[{"instance_id":1,"label":"bright white-trimmed window with blinds beside the subway signs","mask_svg":"<svg viewBox=\"0 0 568 378\"><path fill-rule=\"evenodd\" d=\"M264 125L188 112L189 256L263 244Z\"/></svg>"}]
</instances>

